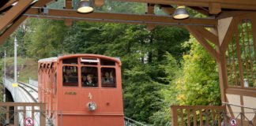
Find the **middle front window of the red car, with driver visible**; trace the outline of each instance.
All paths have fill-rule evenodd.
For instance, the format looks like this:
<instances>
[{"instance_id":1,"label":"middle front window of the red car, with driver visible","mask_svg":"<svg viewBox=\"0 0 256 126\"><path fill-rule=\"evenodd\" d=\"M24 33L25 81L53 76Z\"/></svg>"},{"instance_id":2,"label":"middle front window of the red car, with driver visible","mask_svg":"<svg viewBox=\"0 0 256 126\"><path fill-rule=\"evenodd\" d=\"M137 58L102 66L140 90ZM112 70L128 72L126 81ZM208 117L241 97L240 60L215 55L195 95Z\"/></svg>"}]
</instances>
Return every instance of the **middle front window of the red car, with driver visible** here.
<instances>
[{"instance_id":1,"label":"middle front window of the red car, with driver visible","mask_svg":"<svg viewBox=\"0 0 256 126\"><path fill-rule=\"evenodd\" d=\"M98 87L98 69L96 67L81 67L81 86Z\"/></svg>"}]
</instances>

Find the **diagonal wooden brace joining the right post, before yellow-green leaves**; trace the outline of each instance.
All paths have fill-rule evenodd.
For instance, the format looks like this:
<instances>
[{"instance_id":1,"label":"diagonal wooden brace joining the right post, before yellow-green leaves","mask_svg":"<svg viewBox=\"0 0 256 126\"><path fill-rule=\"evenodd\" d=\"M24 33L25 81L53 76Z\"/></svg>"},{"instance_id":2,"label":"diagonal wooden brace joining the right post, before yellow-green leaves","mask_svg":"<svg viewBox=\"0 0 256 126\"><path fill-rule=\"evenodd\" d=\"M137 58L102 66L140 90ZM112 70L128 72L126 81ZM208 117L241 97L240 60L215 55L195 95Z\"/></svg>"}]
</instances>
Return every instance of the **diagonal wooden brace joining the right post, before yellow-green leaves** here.
<instances>
[{"instance_id":1,"label":"diagonal wooden brace joining the right post, before yellow-green leaves","mask_svg":"<svg viewBox=\"0 0 256 126\"><path fill-rule=\"evenodd\" d=\"M196 28L186 26L186 29L190 31L194 38L198 39L198 42L201 43L201 46L204 46L205 50L207 50L216 61L220 61L220 54L216 52L213 46L207 42L207 40L200 34L200 32L197 31Z\"/></svg>"}]
</instances>

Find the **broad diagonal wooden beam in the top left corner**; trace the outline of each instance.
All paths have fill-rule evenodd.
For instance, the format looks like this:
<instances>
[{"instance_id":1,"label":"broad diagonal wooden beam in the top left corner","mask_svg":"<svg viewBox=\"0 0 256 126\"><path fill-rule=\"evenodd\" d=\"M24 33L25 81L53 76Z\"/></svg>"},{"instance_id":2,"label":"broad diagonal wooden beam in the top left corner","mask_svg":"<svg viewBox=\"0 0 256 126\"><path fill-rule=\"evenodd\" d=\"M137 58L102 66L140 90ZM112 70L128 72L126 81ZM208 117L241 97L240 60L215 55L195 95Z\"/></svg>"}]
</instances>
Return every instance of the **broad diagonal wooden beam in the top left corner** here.
<instances>
[{"instance_id":1,"label":"broad diagonal wooden beam in the top left corner","mask_svg":"<svg viewBox=\"0 0 256 126\"><path fill-rule=\"evenodd\" d=\"M0 31L3 31L9 24L24 12L30 6L33 0L20 0L16 6L13 6L3 17L0 18Z\"/></svg>"}]
</instances>

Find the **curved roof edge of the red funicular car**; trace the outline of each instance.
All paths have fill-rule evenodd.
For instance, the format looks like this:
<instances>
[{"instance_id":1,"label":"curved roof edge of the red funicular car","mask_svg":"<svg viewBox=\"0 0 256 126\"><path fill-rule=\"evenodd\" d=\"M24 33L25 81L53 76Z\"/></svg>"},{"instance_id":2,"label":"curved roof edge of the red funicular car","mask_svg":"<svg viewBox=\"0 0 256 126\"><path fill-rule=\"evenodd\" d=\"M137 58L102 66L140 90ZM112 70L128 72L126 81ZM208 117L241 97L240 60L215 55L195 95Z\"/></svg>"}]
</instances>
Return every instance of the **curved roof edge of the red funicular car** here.
<instances>
[{"instance_id":1,"label":"curved roof edge of the red funicular car","mask_svg":"<svg viewBox=\"0 0 256 126\"><path fill-rule=\"evenodd\" d=\"M119 65L121 65L121 61L118 57L107 57L107 56L100 55L100 54L67 54L67 55L62 55L62 56L59 56L59 57L43 58L43 59L40 59L38 62L39 63L58 62L58 61L61 61L63 59L68 59L68 58L73 58L73 57L98 57L98 58L101 58L101 59L107 59L107 60L118 62Z\"/></svg>"}]
</instances>

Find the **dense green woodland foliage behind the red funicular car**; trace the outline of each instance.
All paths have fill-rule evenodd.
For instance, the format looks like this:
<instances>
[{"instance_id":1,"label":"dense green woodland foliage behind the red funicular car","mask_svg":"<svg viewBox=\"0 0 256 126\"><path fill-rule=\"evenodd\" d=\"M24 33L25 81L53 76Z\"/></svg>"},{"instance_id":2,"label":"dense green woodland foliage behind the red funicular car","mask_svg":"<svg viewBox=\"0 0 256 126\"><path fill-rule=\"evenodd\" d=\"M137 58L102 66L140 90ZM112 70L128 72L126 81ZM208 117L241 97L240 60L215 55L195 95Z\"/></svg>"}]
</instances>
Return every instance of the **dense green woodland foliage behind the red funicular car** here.
<instances>
[{"instance_id":1,"label":"dense green woodland foliage behind the red funicular car","mask_svg":"<svg viewBox=\"0 0 256 126\"><path fill-rule=\"evenodd\" d=\"M123 10L126 6L126 10ZM144 5L107 2L98 9L141 13ZM156 12L161 13L161 12ZM220 90L213 58L178 27L29 19L0 50L13 56L13 36L21 57L40 59L58 54L104 54L120 57L124 110L145 124L170 125L171 105L219 105Z\"/></svg>"}]
</instances>

